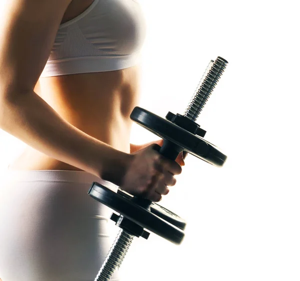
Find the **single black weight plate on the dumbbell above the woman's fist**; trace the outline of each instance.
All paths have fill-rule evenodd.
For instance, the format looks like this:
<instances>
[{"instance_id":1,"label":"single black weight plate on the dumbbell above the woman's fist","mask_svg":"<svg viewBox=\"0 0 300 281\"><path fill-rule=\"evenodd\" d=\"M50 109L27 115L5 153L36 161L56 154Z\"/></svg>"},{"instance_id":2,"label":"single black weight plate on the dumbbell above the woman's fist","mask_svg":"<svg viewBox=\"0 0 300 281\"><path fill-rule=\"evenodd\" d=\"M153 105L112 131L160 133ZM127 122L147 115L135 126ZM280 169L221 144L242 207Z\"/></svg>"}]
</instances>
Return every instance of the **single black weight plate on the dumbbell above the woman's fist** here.
<instances>
[{"instance_id":1,"label":"single black weight plate on the dumbbell above the woman's fist","mask_svg":"<svg viewBox=\"0 0 300 281\"><path fill-rule=\"evenodd\" d=\"M213 144L143 108L135 107L130 114L130 119L211 165L220 167L226 161L227 156Z\"/></svg>"}]
</instances>

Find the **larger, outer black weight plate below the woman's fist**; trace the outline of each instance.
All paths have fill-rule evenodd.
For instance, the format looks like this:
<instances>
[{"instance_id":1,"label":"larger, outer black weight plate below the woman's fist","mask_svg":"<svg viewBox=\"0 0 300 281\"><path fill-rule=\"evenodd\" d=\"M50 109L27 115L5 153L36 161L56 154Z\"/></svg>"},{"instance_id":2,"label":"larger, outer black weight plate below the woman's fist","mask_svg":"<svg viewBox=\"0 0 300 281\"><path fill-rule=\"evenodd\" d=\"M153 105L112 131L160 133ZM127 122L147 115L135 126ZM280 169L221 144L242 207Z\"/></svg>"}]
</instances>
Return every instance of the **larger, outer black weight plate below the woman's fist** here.
<instances>
[{"instance_id":1,"label":"larger, outer black weight plate below the woman's fist","mask_svg":"<svg viewBox=\"0 0 300 281\"><path fill-rule=\"evenodd\" d=\"M92 183L88 194L141 227L148 229L174 244L180 244L183 240L184 232L181 229L98 182Z\"/></svg>"}]
</instances>

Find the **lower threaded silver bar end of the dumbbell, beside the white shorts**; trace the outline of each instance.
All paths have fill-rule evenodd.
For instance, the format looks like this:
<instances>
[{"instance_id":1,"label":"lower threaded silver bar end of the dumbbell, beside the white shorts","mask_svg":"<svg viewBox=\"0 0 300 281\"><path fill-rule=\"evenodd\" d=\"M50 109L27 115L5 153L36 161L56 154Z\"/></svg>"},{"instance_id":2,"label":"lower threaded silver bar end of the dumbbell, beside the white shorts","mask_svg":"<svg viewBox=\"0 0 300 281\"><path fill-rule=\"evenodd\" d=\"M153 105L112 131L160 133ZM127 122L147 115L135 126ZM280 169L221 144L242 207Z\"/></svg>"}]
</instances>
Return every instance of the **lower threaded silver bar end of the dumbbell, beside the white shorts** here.
<instances>
[{"instance_id":1,"label":"lower threaded silver bar end of the dumbbell, beside the white shorts","mask_svg":"<svg viewBox=\"0 0 300 281\"><path fill-rule=\"evenodd\" d=\"M116 267L120 267L134 235L120 229L94 281L109 281Z\"/></svg>"}]
</instances>

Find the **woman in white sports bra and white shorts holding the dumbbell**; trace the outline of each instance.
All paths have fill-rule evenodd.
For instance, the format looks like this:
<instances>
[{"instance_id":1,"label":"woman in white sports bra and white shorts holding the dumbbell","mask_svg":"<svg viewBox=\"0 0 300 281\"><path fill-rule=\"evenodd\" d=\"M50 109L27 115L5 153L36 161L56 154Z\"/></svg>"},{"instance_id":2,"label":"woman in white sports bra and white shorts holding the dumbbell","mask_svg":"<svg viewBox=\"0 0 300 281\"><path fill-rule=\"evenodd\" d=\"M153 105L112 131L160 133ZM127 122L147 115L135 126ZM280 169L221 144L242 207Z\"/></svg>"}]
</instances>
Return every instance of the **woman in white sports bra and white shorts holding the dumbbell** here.
<instances>
[{"instance_id":1,"label":"woman in white sports bra and white shorts holding the dumbbell","mask_svg":"<svg viewBox=\"0 0 300 281\"><path fill-rule=\"evenodd\" d=\"M184 164L182 154L159 155L162 141L129 143L141 8L135 0L9 0L2 9L0 128L27 146L0 185L0 277L91 281L111 240L110 211L87 195L90 184L157 202Z\"/></svg>"}]
</instances>

